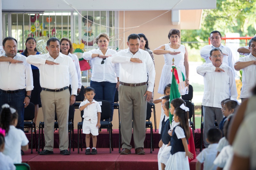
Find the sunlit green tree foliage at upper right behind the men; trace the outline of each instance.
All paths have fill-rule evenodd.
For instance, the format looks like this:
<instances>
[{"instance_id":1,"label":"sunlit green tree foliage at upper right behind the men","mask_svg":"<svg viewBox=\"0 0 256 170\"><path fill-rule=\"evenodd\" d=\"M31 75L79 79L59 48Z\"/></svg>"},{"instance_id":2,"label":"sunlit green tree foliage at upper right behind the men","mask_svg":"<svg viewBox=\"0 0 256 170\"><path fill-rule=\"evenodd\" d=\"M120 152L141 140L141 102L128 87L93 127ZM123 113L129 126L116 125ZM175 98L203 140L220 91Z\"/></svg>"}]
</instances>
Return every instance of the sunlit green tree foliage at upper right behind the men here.
<instances>
[{"instance_id":1,"label":"sunlit green tree foliage at upper right behind the men","mask_svg":"<svg viewBox=\"0 0 256 170\"><path fill-rule=\"evenodd\" d=\"M204 10L201 29L181 30L182 41L207 42L209 34L218 30L226 33L240 33L240 36L255 35L256 0L217 0L216 9ZM189 43L191 48L200 48L201 43Z\"/></svg>"}]
</instances>

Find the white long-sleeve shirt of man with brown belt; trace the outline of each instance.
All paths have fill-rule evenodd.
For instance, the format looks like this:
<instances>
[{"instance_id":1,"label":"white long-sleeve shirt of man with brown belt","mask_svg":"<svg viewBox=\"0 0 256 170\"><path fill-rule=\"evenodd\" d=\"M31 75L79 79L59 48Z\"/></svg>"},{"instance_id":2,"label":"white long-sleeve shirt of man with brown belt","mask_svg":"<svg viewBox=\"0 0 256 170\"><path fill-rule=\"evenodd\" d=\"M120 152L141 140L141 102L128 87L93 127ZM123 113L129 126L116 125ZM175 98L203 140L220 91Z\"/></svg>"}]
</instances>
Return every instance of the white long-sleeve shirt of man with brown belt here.
<instances>
[{"instance_id":1,"label":"white long-sleeve shirt of man with brown belt","mask_svg":"<svg viewBox=\"0 0 256 170\"><path fill-rule=\"evenodd\" d=\"M131 62L131 58L138 58L143 63ZM124 49L112 55L112 63L120 63L120 82L143 83L148 81L148 91L153 92L155 82L155 67L147 51L139 49L134 55L130 49Z\"/></svg>"}]
</instances>

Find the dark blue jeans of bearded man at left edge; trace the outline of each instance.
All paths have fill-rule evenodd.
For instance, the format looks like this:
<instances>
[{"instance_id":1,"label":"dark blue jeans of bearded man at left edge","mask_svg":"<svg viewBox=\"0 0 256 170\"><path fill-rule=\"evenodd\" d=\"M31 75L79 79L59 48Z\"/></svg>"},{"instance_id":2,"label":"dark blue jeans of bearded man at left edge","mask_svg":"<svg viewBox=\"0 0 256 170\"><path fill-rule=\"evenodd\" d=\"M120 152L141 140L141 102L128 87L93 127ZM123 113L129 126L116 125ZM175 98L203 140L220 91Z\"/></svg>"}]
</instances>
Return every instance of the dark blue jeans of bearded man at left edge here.
<instances>
[{"instance_id":1,"label":"dark blue jeans of bearded man at left edge","mask_svg":"<svg viewBox=\"0 0 256 170\"><path fill-rule=\"evenodd\" d=\"M24 99L25 90L17 93L0 92L0 106L7 103L18 112L18 124L16 128L24 130Z\"/></svg>"}]
</instances>

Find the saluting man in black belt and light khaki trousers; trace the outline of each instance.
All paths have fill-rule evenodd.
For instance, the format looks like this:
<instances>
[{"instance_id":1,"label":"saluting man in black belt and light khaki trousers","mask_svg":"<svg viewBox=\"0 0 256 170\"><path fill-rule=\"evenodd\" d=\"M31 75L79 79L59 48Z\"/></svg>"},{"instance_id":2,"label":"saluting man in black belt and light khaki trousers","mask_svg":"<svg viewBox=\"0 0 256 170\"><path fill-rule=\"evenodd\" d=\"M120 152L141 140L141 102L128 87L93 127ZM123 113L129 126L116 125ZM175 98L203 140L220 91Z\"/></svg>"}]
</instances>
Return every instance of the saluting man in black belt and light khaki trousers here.
<instances>
[{"instance_id":1,"label":"saluting man in black belt and light khaki trousers","mask_svg":"<svg viewBox=\"0 0 256 170\"><path fill-rule=\"evenodd\" d=\"M38 67L40 85L42 87L41 101L44 114L44 151L40 155L53 154L53 129L55 111L58 118L60 154L68 152L68 109L76 100L78 78L72 59L60 53L60 41L53 37L47 41L47 54L29 55L27 62ZM69 78L70 81L69 82ZM71 85L71 95L68 90Z\"/></svg>"}]
</instances>

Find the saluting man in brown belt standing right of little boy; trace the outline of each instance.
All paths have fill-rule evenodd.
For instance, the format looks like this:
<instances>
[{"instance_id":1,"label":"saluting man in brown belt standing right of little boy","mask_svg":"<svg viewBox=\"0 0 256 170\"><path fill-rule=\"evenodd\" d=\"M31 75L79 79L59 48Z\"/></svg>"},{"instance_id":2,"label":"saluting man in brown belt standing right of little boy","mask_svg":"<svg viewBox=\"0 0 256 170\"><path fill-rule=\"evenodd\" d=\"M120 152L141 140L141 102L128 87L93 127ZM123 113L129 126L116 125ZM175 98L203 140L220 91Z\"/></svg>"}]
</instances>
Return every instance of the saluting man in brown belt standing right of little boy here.
<instances>
[{"instance_id":1,"label":"saluting man in brown belt standing right of little boy","mask_svg":"<svg viewBox=\"0 0 256 170\"><path fill-rule=\"evenodd\" d=\"M144 155L147 101L152 96L156 73L151 56L140 49L138 34L129 35L127 45L129 48L112 55L111 59L112 63L120 63L118 95L123 148L121 154L131 153L133 122L135 153Z\"/></svg>"}]
</instances>

